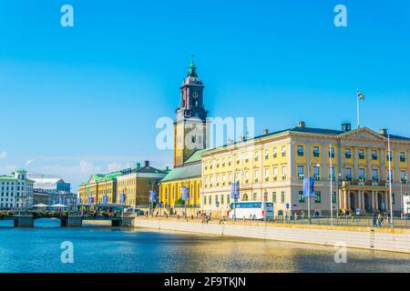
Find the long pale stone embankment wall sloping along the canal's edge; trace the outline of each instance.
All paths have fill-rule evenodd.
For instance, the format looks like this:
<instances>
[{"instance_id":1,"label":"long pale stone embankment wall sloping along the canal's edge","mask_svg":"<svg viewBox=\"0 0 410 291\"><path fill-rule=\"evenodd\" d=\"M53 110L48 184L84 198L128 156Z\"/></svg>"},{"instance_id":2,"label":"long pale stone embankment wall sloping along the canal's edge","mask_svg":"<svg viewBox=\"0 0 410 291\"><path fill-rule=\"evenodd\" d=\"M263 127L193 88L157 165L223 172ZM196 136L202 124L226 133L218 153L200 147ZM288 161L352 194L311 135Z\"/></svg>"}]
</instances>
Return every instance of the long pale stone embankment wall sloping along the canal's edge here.
<instances>
[{"instance_id":1,"label":"long pale stone embankment wall sloping along the canal's edge","mask_svg":"<svg viewBox=\"0 0 410 291\"><path fill-rule=\"evenodd\" d=\"M349 219L349 218L345 218ZM261 221L138 217L134 226L218 236L240 236L323 246L346 246L401 253L410 253L410 229L366 226L320 226Z\"/></svg>"}]
</instances>

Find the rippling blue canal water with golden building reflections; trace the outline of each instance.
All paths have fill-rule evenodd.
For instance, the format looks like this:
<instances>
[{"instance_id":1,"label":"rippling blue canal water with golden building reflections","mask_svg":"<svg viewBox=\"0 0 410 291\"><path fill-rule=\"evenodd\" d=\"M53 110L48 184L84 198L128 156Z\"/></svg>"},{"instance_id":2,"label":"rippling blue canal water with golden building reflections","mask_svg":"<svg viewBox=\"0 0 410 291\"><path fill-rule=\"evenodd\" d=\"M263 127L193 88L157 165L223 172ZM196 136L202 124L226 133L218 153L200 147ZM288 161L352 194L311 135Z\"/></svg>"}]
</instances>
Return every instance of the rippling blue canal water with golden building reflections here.
<instances>
[{"instance_id":1,"label":"rippling blue canal water with golden building reflections","mask_svg":"<svg viewBox=\"0 0 410 291\"><path fill-rule=\"evenodd\" d=\"M61 228L36 220L34 228L1 222L0 272L410 272L410 255L347 250L334 263L329 246L194 235L140 228ZM63 264L63 242L74 263Z\"/></svg>"}]
</instances>

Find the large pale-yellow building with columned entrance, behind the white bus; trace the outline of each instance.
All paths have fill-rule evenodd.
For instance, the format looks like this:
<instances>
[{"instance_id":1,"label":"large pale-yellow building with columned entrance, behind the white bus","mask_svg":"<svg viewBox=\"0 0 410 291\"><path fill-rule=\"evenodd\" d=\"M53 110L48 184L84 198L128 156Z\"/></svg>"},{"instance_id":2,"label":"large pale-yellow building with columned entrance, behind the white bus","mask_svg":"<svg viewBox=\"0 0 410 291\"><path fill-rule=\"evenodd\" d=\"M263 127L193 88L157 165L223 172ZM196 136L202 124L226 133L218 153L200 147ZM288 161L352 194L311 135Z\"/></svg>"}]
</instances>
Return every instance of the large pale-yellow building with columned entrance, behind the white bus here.
<instances>
[{"instance_id":1,"label":"large pale-yellow building with columned entrance, behind the white bus","mask_svg":"<svg viewBox=\"0 0 410 291\"><path fill-rule=\"evenodd\" d=\"M368 128L327 130L298 126L221 146L203 153L201 203L205 211L226 214L231 182L239 181L241 201L270 201L276 215L308 212L302 179L313 176L311 211L330 215L338 209L389 210L387 132ZM407 183L410 138L391 135L393 209L400 212ZM332 164L332 166L331 166Z\"/></svg>"}]
</instances>

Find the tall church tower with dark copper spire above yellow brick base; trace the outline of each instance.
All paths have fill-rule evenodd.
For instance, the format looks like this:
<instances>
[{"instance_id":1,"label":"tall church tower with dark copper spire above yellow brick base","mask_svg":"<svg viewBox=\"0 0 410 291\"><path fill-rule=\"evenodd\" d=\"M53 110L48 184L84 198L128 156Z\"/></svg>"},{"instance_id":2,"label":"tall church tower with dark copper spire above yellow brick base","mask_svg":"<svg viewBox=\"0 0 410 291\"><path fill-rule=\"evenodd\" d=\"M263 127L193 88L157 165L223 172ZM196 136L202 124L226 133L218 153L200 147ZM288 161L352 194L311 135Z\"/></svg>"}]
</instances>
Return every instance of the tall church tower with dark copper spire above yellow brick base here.
<instances>
[{"instance_id":1,"label":"tall church tower with dark copper spire above yellow brick base","mask_svg":"<svg viewBox=\"0 0 410 291\"><path fill-rule=\"evenodd\" d=\"M180 103L174 123L174 167L183 163L197 150L208 145L208 111L203 105L205 86L197 75L197 67L190 62L188 75L180 87Z\"/></svg>"}]
</instances>

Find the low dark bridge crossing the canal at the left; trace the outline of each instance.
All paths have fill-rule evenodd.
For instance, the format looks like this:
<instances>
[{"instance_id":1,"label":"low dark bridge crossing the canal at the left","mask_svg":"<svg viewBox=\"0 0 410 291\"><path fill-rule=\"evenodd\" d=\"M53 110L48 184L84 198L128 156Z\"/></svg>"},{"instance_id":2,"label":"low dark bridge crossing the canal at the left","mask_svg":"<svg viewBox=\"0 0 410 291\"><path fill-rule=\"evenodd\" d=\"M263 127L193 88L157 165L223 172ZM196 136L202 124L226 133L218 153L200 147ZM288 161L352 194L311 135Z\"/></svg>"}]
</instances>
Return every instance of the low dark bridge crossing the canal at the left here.
<instances>
[{"instance_id":1,"label":"low dark bridge crossing the canal at the left","mask_svg":"<svg viewBox=\"0 0 410 291\"><path fill-rule=\"evenodd\" d=\"M134 226L134 220L137 217L135 213L121 213L116 216L90 216L80 212L71 212L67 215L55 214L44 215L35 212L17 212L0 216L0 220L12 220L14 226L33 227L34 221L38 218L57 218L61 221L61 226L80 227L84 221L110 221L111 226Z\"/></svg>"}]
</instances>

